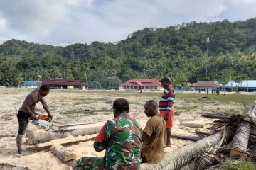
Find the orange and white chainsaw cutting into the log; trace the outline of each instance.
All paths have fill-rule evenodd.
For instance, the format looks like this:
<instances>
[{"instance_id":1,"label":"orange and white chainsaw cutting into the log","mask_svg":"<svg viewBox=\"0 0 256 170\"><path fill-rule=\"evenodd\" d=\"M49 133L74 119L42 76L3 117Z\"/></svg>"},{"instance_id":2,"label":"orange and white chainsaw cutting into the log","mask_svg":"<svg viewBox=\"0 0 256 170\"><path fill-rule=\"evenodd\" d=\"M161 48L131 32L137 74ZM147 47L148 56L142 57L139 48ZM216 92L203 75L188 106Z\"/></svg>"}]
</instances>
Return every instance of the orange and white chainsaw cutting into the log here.
<instances>
[{"instance_id":1,"label":"orange and white chainsaw cutting into the log","mask_svg":"<svg viewBox=\"0 0 256 170\"><path fill-rule=\"evenodd\" d=\"M50 121L52 120L52 118L48 117L47 115L38 115L38 118L36 118L35 120L29 120L33 125L37 125L39 127L44 128L44 130L48 131L50 129L52 130L56 130L56 131L63 131L63 130L67 130L65 128L60 128L57 125L54 125L53 123L51 123Z\"/></svg>"}]
</instances>

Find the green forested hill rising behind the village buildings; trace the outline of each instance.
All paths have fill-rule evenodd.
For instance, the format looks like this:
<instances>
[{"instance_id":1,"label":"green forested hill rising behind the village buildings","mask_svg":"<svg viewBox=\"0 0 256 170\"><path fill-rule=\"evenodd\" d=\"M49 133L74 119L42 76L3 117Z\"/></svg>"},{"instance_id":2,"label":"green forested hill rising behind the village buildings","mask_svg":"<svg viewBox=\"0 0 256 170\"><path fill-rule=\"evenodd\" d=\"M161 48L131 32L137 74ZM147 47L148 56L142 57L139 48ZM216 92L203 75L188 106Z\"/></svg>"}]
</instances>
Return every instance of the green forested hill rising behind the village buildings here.
<instances>
[{"instance_id":1,"label":"green forested hill rising behind the village buildings","mask_svg":"<svg viewBox=\"0 0 256 170\"><path fill-rule=\"evenodd\" d=\"M65 77L110 88L127 79L166 74L174 84L256 79L255 52L256 18L144 28L117 43L54 47L8 40L0 45L0 85Z\"/></svg>"}]
</instances>

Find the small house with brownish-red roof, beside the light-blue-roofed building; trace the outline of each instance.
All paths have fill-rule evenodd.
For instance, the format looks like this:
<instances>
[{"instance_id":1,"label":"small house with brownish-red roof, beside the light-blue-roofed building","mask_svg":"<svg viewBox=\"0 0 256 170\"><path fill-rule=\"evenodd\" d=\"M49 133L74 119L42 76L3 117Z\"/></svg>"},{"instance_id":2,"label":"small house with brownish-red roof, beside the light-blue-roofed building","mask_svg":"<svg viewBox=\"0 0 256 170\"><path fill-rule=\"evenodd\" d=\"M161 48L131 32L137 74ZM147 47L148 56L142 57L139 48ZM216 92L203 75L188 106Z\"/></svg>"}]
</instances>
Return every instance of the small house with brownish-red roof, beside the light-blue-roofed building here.
<instances>
[{"instance_id":1,"label":"small house with brownish-red roof, beside the light-blue-roofed building","mask_svg":"<svg viewBox=\"0 0 256 170\"><path fill-rule=\"evenodd\" d=\"M198 91L201 89L201 91L211 91L212 89L217 89L220 85L218 84L218 81L198 81L196 84L193 84L193 90Z\"/></svg>"}]
</instances>

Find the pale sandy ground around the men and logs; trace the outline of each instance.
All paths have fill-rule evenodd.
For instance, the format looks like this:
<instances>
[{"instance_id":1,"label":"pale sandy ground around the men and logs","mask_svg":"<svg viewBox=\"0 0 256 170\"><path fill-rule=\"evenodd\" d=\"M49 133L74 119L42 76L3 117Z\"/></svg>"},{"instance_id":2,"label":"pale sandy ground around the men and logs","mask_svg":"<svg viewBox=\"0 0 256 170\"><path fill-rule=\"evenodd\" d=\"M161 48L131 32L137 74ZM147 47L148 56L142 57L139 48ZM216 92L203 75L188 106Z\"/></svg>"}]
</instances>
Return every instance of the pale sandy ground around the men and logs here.
<instances>
[{"instance_id":1,"label":"pale sandy ground around the men and logs","mask_svg":"<svg viewBox=\"0 0 256 170\"><path fill-rule=\"evenodd\" d=\"M6 89L0 88L0 164L8 163L14 166L27 167L28 169L70 169L70 166L62 162L58 157L48 150L41 152L29 152L28 156L21 158L14 157L16 149L16 135L18 132L18 121L16 113L21 107L24 98L31 92L31 89ZM112 119L111 105L116 98L127 98L130 103L130 114L137 118L142 128L146 125L148 118L144 114L144 103L149 99L159 101L161 92L152 95L139 94L134 92L117 91L50 91L46 96L46 103L54 115L53 123L73 124L92 123L90 125L103 125L105 121ZM200 101L198 101L200 102ZM235 103L206 103L203 106L196 101L176 98L175 106L180 115L175 117L175 125L172 133L175 135L195 135L195 128L188 128L180 125L181 121L191 120L193 123L205 126L211 123L208 118L201 118L200 114L206 111L221 111L227 107L239 109ZM183 106L183 108L181 107ZM195 107L197 106L197 107ZM46 113L38 103L36 112ZM28 128L35 128L29 124ZM171 147L166 147L165 152L188 145L191 141L172 139ZM25 142L25 137L23 137ZM27 145L23 145L26 150ZM105 152L95 152L93 141L80 142L67 147L77 154L77 157L96 156L102 157Z\"/></svg>"}]
</instances>

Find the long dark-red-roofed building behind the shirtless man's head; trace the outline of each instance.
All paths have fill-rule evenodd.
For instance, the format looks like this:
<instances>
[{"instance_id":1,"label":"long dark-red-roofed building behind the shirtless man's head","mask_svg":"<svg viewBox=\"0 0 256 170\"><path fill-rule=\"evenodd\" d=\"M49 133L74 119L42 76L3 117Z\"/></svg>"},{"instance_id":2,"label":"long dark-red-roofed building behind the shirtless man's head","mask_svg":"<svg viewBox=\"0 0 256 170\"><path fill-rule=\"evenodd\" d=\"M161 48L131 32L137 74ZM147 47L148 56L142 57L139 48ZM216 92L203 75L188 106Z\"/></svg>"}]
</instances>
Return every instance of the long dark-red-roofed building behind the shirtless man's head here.
<instances>
[{"instance_id":1,"label":"long dark-red-roofed building behind the shirtless man's head","mask_svg":"<svg viewBox=\"0 0 256 170\"><path fill-rule=\"evenodd\" d=\"M73 79L42 79L42 84L50 86L51 89L88 89L88 84Z\"/></svg>"}]
</instances>

